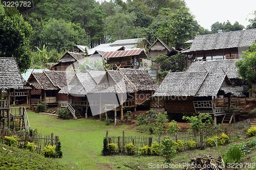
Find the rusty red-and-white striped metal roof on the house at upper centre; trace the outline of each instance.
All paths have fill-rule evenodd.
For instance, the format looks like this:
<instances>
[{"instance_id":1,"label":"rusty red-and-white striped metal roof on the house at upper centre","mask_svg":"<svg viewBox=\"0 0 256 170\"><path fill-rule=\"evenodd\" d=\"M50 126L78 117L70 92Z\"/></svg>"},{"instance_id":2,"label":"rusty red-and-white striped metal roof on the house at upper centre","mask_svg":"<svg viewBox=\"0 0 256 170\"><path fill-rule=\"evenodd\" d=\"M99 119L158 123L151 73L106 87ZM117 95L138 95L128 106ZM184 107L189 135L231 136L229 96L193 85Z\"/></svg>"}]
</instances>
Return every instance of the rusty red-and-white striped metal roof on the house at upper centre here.
<instances>
[{"instance_id":1,"label":"rusty red-and-white striped metal roof on the house at upper centre","mask_svg":"<svg viewBox=\"0 0 256 170\"><path fill-rule=\"evenodd\" d=\"M101 58L115 58L115 57L127 57L127 56L137 56L141 53L146 57L144 49L138 48L135 50L124 50L124 51L115 51L115 52L106 52Z\"/></svg>"}]
</instances>

